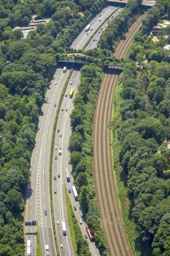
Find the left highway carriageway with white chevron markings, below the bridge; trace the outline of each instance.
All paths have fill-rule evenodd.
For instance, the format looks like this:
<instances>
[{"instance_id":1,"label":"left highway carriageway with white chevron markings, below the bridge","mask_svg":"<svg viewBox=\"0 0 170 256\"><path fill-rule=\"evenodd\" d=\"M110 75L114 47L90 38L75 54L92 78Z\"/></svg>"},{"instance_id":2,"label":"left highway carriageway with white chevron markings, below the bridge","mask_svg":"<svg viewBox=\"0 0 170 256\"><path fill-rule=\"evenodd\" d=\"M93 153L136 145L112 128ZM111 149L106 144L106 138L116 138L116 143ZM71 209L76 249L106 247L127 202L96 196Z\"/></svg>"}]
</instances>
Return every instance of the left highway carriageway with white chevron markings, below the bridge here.
<instances>
[{"instance_id":1,"label":"left highway carriageway with white chevron markings, below the bridge","mask_svg":"<svg viewBox=\"0 0 170 256\"><path fill-rule=\"evenodd\" d=\"M62 68L60 66L57 68L41 108L35 148L31 156L31 186L27 194L25 221L37 220L43 256L46 255L45 245L49 245L50 255L56 255L49 206L49 158L56 112L54 104L58 104L67 77L67 73L63 73ZM45 210L47 215L45 215ZM36 226L25 226L26 243L28 239L31 240L31 253L36 256Z\"/></svg>"}]
</instances>

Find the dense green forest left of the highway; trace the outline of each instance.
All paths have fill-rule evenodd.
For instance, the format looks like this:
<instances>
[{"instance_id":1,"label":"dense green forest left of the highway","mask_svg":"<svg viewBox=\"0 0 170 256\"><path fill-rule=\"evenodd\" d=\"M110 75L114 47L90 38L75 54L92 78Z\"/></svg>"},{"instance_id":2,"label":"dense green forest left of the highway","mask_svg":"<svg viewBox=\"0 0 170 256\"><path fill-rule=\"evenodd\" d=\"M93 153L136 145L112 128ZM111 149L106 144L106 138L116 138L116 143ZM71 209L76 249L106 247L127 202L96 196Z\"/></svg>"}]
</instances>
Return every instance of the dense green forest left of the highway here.
<instances>
[{"instance_id":1,"label":"dense green forest left of the highway","mask_svg":"<svg viewBox=\"0 0 170 256\"><path fill-rule=\"evenodd\" d=\"M84 0L0 1L0 255L24 255L21 223L30 157L56 61L104 5ZM33 14L52 21L38 24L25 39L21 30L12 31L27 26Z\"/></svg>"}]
</instances>

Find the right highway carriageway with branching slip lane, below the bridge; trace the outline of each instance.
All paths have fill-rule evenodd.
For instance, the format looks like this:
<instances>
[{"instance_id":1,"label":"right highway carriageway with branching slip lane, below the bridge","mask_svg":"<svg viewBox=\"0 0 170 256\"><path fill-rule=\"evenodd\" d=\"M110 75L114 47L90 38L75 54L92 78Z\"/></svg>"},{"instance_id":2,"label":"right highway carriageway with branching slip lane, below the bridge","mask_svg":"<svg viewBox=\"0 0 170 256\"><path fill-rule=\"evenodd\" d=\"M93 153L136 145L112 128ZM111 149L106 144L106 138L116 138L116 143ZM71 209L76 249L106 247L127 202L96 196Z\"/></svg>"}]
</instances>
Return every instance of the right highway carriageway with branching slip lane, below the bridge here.
<instances>
[{"instance_id":1,"label":"right highway carriageway with branching slip lane, below the bridge","mask_svg":"<svg viewBox=\"0 0 170 256\"><path fill-rule=\"evenodd\" d=\"M72 85L70 85L70 82L72 82ZM53 179L53 204L54 204L54 214L55 214L55 222L59 221L59 225L56 223L56 231L57 231L57 239L58 244L60 248L61 256L65 255L74 255L72 244L70 240L70 236L67 237L63 235L62 231L62 225L61 220L65 221L66 225L66 232L69 234L69 226L67 222L67 215L66 215L66 205L65 205L65 186L68 189L71 189L71 186L73 185L73 178L71 176L72 167L69 164L70 159L70 153L69 150L67 150L69 146L69 139L71 135L71 126L70 126L70 114L73 110L73 99L75 96L75 93L77 92L78 85L80 83L80 70L75 69L73 71L72 77L70 79L69 85L67 86L66 93L67 97L63 98L62 106L63 111L60 111L60 115L58 116L58 122L57 122L57 130L55 135L55 145L54 145L54 156L53 156L53 177L56 177L56 180ZM69 92L70 89L74 88L74 94L73 99L69 98ZM67 111L66 111L67 109ZM61 137L60 137L61 134ZM57 149L55 149L57 147ZM58 149L62 148L62 155L58 154ZM57 159L55 159L55 156L57 156ZM66 175L65 175L65 168L68 168L70 171L70 182L66 181ZM60 174L60 178L58 178L58 174ZM54 194L54 190L56 190L56 194ZM86 227L87 224L85 222L84 218L81 218L80 213L80 204L78 201L74 200L73 194L69 193L70 201L73 206L77 206L77 211L74 211L75 217L78 220L82 220L82 225L79 226L82 230L82 235L84 237L84 234L86 233ZM85 239L85 238L84 238ZM91 242L89 238L87 238L87 241L89 243L89 249L92 254L92 256L99 256L99 250L96 247L95 242ZM60 247L60 244L63 245L63 248Z\"/></svg>"}]
</instances>

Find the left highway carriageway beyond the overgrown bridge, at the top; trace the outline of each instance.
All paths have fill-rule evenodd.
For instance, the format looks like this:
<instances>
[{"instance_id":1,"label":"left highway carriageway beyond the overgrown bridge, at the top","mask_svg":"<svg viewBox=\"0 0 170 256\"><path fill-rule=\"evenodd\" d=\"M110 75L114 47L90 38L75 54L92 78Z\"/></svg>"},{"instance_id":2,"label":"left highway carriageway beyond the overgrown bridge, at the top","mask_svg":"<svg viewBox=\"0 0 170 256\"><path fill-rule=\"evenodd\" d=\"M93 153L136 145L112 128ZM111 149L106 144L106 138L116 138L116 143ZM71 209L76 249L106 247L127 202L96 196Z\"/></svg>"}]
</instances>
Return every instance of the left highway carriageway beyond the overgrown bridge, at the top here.
<instances>
[{"instance_id":1,"label":"left highway carriageway beyond the overgrown bridge, at the top","mask_svg":"<svg viewBox=\"0 0 170 256\"><path fill-rule=\"evenodd\" d=\"M116 7L114 6L108 6L108 7L105 7L100 14L97 14L96 17L89 22L90 26L92 27L92 30L91 31L89 30L86 33L85 27L84 27L81 33L79 34L79 36L72 43L71 48L82 49L82 47L84 46L84 44L86 44L86 42L88 41L92 33L94 33L94 31L101 26L101 23L104 21L104 19L106 19L109 15L111 15L111 13L114 12L115 9ZM99 18L100 18L100 21L98 21Z\"/></svg>"}]
</instances>

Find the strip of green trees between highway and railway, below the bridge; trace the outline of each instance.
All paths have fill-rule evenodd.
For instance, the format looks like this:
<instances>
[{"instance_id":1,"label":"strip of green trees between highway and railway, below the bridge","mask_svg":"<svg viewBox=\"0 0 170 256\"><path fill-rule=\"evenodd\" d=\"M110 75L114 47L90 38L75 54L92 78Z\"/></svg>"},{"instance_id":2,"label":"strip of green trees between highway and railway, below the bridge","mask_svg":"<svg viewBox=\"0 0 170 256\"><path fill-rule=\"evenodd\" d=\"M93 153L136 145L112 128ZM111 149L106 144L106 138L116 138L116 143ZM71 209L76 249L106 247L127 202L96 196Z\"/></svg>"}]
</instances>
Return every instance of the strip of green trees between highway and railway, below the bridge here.
<instances>
[{"instance_id":1,"label":"strip of green trees between highway and railway, below the bridge","mask_svg":"<svg viewBox=\"0 0 170 256\"><path fill-rule=\"evenodd\" d=\"M94 233L101 255L107 255L92 170L92 123L103 71L94 64L81 68L81 82L71 113L72 135L69 141L70 163L79 202L87 223Z\"/></svg>"}]
</instances>

